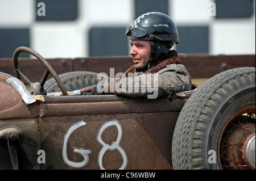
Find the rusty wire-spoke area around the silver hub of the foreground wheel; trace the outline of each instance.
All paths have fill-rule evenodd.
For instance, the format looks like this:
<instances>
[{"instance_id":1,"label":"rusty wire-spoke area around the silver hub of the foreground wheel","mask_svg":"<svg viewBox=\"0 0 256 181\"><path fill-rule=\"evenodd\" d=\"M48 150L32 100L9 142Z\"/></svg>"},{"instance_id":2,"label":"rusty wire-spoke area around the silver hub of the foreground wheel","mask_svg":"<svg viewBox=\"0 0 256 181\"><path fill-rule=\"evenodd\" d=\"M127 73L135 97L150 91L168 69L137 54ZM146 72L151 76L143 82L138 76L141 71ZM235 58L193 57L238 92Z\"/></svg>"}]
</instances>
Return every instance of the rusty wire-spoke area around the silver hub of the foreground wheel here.
<instances>
[{"instance_id":1,"label":"rusty wire-spoke area around the silver hub of the foreground wheel","mask_svg":"<svg viewBox=\"0 0 256 181\"><path fill-rule=\"evenodd\" d=\"M253 113L242 113L225 125L222 137L220 137L219 157L222 169L251 169L246 162L242 148L246 138L255 133L254 123Z\"/></svg>"}]
</instances>

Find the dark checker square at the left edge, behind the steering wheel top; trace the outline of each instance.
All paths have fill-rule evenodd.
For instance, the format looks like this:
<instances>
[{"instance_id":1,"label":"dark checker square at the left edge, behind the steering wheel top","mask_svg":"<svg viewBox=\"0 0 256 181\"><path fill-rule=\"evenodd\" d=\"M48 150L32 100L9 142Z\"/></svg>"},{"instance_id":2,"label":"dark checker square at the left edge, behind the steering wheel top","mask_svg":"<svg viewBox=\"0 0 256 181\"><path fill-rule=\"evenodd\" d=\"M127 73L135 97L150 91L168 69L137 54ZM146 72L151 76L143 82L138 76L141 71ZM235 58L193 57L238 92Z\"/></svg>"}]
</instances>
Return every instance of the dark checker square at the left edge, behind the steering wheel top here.
<instances>
[{"instance_id":1,"label":"dark checker square at the left edge, behind the steering wheel top","mask_svg":"<svg viewBox=\"0 0 256 181\"><path fill-rule=\"evenodd\" d=\"M28 28L3 28L0 29L0 58L13 58L13 53L18 47L30 47L30 30ZM26 52L19 57L27 58Z\"/></svg>"}]
</instances>

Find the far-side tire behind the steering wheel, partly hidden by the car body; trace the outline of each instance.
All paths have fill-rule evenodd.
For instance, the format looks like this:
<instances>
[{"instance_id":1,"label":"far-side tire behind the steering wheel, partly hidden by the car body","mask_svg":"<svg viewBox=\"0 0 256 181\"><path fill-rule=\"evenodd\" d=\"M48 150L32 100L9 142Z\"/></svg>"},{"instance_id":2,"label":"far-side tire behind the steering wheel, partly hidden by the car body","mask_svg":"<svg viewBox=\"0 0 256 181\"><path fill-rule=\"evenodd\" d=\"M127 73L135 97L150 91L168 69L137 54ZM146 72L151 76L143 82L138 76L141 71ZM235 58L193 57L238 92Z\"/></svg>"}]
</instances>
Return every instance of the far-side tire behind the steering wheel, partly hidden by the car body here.
<instances>
[{"instance_id":1,"label":"far-side tire behind the steering wheel, partly hidden by the car body","mask_svg":"<svg viewBox=\"0 0 256 181\"><path fill-rule=\"evenodd\" d=\"M71 71L68 73L60 74L59 77L65 89L67 91L73 91L82 89L84 87L97 85L97 83L100 81L109 80L106 75L101 75L101 79L97 79L97 75L100 74L91 71ZM44 88L47 92L60 91L60 88L54 78L48 79L44 85Z\"/></svg>"}]
</instances>

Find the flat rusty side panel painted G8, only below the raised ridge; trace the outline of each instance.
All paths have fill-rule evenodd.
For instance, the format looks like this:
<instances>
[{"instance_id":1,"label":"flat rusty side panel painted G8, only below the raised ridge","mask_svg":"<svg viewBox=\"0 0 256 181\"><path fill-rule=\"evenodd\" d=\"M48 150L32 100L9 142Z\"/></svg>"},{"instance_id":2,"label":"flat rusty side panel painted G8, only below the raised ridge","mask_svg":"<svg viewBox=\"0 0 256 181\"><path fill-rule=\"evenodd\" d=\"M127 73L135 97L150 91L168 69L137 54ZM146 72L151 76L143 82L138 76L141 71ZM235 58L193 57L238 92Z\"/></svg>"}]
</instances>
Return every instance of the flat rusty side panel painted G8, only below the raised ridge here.
<instances>
[{"instance_id":1,"label":"flat rusty side panel painted G8, only below the raised ridge","mask_svg":"<svg viewBox=\"0 0 256 181\"><path fill-rule=\"evenodd\" d=\"M46 151L46 163L41 169L172 169L172 129L178 115L42 117L40 148ZM68 132L79 121L86 124ZM75 148L87 151L88 158Z\"/></svg>"}]
</instances>

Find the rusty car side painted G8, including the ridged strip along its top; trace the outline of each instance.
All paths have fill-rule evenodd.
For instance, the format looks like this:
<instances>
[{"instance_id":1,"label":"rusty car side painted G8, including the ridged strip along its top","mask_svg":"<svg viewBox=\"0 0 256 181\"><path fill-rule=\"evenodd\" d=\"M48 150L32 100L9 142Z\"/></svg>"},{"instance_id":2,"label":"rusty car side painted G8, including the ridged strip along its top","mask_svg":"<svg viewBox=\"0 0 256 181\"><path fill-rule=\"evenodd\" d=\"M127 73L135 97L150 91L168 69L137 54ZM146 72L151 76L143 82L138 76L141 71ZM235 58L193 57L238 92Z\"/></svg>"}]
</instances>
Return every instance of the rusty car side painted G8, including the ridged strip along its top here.
<instances>
[{"instance_id":1,"label":"rusty car side painted G8, including the ridged strip along its top","mask_svg":"<svg viewBox=\"0 0 256 181\"><path fill-rule=\"evenodd\" d=\"M186 100L46 98L40 103L40 148L47 154L41 169L172 169L172 134Z\"/></svg>"}]
</instances>

